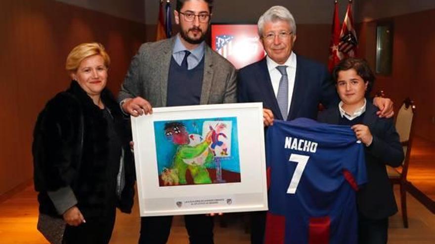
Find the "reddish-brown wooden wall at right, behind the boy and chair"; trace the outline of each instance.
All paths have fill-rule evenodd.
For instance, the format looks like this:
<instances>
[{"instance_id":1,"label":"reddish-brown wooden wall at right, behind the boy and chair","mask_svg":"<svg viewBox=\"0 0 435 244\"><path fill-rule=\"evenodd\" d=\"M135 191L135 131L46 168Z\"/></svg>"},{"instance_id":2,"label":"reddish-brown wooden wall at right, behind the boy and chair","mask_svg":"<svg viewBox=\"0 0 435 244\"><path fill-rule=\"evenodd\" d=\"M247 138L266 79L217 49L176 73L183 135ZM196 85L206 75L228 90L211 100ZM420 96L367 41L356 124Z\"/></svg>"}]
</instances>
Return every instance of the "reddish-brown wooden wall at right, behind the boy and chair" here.
<instances>
[{"instance_id":1,"label":"reddish-brown wooden wall at right, behind the boy and chair","mask_svg":"<svg viewBox=\"0 0 435 244\"><path fill-rule=\"evenodd\" d=\"M418 112L416 134L435 141L435 9L381 21L393 23L392 74L378 75L374 90L385 90L396 110L411 97ZM374 68L376 21L361 25L360 49Z\"/></svg>"}]
</instances>

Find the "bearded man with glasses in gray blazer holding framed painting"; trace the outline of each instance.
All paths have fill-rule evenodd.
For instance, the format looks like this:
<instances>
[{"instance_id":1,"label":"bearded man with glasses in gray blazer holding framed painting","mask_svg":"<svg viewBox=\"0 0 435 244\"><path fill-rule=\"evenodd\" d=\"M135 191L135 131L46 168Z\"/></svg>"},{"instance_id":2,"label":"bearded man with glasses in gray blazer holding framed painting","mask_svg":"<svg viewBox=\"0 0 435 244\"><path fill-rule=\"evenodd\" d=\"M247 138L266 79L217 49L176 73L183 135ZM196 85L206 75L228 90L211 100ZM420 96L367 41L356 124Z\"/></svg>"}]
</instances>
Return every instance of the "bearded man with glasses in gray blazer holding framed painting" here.
<instances>
[{"instance_id":1,"label":"bearded man with glasses in gray blazer holding framed painting","mask_svg":"<svg viewBox=\"0 0 435 244\"><path fill-rule=\"evenodd\" d=\"M119 93L126 113L138 116L152 107L236 102L234 67L204 42L213 0L177 0L173 38L144 43L134 56ZM184 217L191 244L213 244L213 219ZM142 217L139 243L167 242L172 216Z\"/></svg>"}]
</instances>

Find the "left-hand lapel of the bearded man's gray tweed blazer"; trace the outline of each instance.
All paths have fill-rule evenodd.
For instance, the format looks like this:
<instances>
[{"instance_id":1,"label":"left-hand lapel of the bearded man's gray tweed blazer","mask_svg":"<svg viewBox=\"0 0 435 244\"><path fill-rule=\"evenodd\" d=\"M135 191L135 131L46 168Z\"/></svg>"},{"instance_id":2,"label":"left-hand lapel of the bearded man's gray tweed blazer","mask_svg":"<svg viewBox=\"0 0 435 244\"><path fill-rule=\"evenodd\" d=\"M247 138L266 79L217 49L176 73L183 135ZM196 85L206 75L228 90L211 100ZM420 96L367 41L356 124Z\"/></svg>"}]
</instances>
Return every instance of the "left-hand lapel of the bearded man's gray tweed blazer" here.
<instances>
[{"instance_id":1,"label":"left-hand lapel of the bearded man's gray tweed blazer","mask_svg":"<svg viewBox=\"0 0 435 244\"><path fill-rule=\"evenodd\" d=\"M172 50L174 49L176 35L171 39L162 42L163 55L157 56L156 64L159 69L159 77L156 77L157 84L160 84L160 94L162 98L162 106L166 106L166 98L168 93L168 75L171 66Z\"/></svg>"}]
</instances>

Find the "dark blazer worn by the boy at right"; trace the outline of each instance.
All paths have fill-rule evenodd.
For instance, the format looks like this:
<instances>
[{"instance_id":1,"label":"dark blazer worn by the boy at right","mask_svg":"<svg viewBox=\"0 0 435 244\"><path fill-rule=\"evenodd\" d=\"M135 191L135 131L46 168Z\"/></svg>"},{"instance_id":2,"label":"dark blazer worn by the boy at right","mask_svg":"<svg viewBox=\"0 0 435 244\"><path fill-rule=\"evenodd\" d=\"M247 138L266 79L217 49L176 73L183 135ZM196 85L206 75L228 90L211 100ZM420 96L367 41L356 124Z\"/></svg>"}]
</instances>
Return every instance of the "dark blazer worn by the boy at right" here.
<instances>
[{"instance_id":1,"label":"dark blazer worn by the boy at right","mask_svg":"<svg viewBox=\"0 0 435 244\"><path fill-rule=\"evenodd\" d=\"M365 147L368 182L358 191L356 201L358 211L364 216L382 219L397 212L385 165L398 167L404 156L393 119L379 118L376 111L378 108L367 101L363 124L369 127L373 142L369 147ZM322 111L318 121L338 124L340 121L338 106Z\"/></svg>"}]
</instances>

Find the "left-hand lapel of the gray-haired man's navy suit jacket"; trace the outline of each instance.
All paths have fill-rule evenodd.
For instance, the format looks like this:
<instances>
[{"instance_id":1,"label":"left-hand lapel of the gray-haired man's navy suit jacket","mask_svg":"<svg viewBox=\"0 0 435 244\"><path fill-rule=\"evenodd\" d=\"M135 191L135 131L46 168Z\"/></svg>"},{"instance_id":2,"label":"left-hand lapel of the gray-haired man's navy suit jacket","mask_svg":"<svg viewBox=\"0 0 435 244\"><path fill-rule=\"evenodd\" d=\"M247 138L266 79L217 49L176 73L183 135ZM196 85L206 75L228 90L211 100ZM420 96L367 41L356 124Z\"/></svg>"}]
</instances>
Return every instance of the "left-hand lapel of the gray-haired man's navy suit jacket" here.
<instances>
[{"instance_id":1,"label":"left-hand lapel of the gray-haired man's navy suit jacket","mask_svg":"<svg viewBox=\"0 0 435 244\"><path fill-rule=\"evenodd\" d=\"M264 91L264 100L266 105L271 107L265 107L272 110L276 119L283 119L281 110L279 110L278 101L276 100L275 92L273 91L272 81L270 80L269 70L267 69L266 58L263 58L259 63L259 68L256 73L258 85L261 91ZM264 106L264 105L263 105Z\"/></svg>"}]
</instances>

